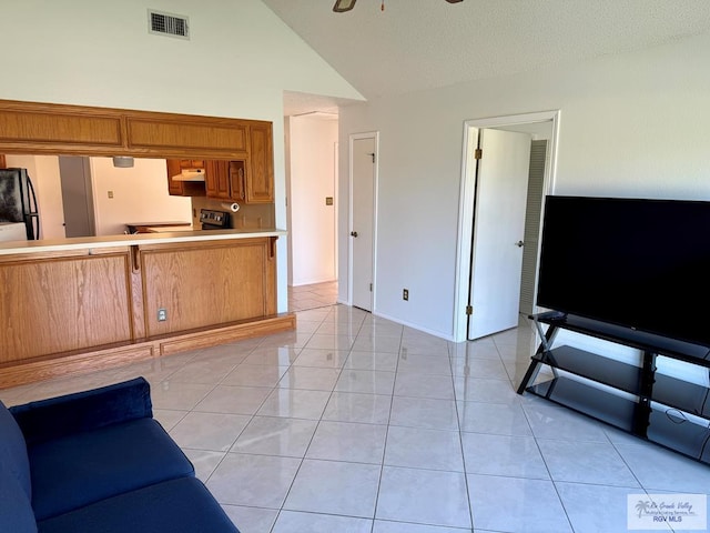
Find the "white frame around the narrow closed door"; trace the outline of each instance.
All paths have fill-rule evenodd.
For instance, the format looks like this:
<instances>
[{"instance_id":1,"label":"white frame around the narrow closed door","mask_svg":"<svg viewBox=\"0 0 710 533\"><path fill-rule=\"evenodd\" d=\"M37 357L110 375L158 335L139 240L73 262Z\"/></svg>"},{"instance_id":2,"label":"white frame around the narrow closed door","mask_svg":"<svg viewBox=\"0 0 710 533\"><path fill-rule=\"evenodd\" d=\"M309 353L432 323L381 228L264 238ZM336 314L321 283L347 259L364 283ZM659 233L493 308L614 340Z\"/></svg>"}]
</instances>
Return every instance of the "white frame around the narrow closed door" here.
<instances>
[{"instance_id":1,"label":"white frame around the narrow closed door","mask_svg":"<svg viewBox=\"0 0 710 533\"><path fill-rule=\"evenodd\" d=\"M353 147L355 141L361 139L374 139L375 141L375 175L374 175L374 191L373 191L373 264L372 264L372 279L373 279L373 295L372 295L372 310L374 313L377 308L377 205L378 192L379 192L379 132L366 131L363 133L351 133L348 135L348 220L347 220L347 303L353 304L353 239L351 238L351 231L353 231L353 213L355 205L353 204Z\"/></svg>"}]
</instances>

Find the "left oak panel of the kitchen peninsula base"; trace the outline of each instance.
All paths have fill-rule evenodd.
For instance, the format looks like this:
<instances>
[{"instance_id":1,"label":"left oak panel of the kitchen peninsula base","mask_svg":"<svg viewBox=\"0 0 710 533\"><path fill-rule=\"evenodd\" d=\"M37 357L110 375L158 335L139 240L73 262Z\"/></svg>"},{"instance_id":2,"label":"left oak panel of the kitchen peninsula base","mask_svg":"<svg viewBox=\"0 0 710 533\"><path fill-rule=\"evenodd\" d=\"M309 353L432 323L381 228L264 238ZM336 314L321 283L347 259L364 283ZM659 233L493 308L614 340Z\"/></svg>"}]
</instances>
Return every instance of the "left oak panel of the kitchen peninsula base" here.
<instances>
[{"instance_id":1,"label":"left oak panel of the kitchen peninsula base","mask_svg":"<svg viewBox=\"0 0 710 533\"><path fill-rule=\"evenodd\" d=\"M91 254L0 257L0 365L131 341L128 248Z\"/></svg>"}]
</instances>

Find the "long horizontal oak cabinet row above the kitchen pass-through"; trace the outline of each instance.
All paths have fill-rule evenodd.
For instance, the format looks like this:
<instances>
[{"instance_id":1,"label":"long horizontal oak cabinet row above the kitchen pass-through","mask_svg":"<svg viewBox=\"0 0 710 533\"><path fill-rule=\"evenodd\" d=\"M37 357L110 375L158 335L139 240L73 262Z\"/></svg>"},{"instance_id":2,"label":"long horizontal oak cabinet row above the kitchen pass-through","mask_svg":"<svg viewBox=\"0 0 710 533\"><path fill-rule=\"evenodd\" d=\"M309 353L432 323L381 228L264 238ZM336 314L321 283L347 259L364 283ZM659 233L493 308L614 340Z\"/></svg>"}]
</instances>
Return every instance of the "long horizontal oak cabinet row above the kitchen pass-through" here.
<instances>
[{"instance_id":1,"label":"long horizontal oak cabinet row above the kitchen pass-through","mask_svg":"<svg viewBox=\"0 0 710 533\"><path fill-rule=\"evenodd\" d=\"M203 160L246 159L250 128L271 131L260 120L14 100L0 100L0 153Z\"/></svg>"}]
</instances>

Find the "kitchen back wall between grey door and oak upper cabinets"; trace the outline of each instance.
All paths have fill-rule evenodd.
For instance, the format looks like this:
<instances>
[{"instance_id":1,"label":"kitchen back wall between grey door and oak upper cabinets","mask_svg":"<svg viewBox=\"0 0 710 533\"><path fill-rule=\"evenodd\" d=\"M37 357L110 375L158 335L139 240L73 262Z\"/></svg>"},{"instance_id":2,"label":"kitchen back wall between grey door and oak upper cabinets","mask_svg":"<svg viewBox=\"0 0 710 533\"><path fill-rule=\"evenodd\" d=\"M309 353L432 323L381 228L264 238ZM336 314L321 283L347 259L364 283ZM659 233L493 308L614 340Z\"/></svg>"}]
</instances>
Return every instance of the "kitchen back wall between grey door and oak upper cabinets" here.
<instances>
[{"instance_id":1,"label":"kitchen back wall between grey door and oak upper cabinets","mask_svg":"<svg viewBox=\"0 0 710 533\"><path fill-rule=\"evenodd\" d=\"M135 158L128 169L90 158L97 235L118 235L132 222L191 222L190 198L171 197L164 159ZM113 198L109 198L109 192Z\"/></svg>"}]
</instances>

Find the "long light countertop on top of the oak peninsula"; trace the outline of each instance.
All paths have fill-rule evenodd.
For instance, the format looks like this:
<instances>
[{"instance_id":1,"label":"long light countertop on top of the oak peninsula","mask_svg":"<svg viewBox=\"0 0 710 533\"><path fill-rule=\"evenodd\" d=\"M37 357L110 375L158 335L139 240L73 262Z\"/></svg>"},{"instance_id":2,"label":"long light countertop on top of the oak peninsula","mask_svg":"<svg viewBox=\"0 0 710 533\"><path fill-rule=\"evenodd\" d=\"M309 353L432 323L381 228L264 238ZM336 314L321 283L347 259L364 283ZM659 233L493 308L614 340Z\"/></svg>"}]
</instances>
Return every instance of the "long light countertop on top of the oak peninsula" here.
<instances>
[{"instance_id":1,"label":"long light countertop on top of the oak peninsula","mask_svg":"<svg viewBox=\"0 0 710 533\"><path fill-rule=\"evenodd\" d=\"M42 239L39 241L0 242L0 255L14 253L58 252L94 248L131 247L189 241L223 241L256 237L283 237L286 230L199 230L165 233L136 233L133 235L77 237L71 239Z\"/></svg>"}]
</instances>

